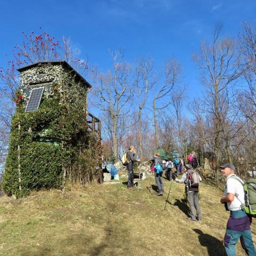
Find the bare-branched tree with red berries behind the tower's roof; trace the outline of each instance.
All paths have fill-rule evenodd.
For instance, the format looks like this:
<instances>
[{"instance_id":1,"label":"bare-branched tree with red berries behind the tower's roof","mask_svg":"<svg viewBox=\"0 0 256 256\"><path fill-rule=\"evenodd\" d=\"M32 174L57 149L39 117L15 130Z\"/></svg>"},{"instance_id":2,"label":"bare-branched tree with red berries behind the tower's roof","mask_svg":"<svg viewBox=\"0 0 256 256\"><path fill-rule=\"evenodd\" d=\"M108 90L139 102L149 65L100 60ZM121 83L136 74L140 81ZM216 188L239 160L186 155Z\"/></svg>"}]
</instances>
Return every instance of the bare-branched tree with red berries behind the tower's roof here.
<instances>
[{"instance_id":1,"label":"bare-branched tree with red berries behind the tower's roof","mask_svg":"<svg viewBox=\"0 0 256 256\"><path fill-rule=\"evenodd\" d=\"M67 60L81 74L87 74L89 70L86 60L79 60L78 53L74 51L70 39L63 38L63 43L50 36L46 32L35 34L23 33L22 44L15 44L12 50L12 60L0 67L0 146L7 150L6 141L9 140L11 118L15 112L15 101L19 89L19 73L17 68L41 61ZM4 134L4 135L3 135ZM7 137L7 138L6 138ZM7 152L6 152L7 153ZM1 158L0 165L4 164Z\"/></svg>"}]
</instances>

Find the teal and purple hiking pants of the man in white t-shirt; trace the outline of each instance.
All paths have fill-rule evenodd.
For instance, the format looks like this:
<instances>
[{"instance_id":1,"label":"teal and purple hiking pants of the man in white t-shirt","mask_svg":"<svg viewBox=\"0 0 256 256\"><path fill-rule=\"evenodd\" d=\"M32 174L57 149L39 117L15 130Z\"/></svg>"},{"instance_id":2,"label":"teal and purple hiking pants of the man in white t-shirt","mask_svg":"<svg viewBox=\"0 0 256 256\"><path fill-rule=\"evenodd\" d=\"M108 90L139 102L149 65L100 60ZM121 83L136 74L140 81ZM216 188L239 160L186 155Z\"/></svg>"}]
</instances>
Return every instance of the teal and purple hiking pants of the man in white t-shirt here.
<instances>
[{"instance_id":1,"label":"teal and purple hiking pants of the man in white t-shirt","mask_svg":"<svg viewBox=\"0 0 256 256\"><path fill-rule=\"evenodd\" d=\"M236 255L236 243L240 238L241 245L247 255L255 256L251 231L252 217L244 211L230 211L224 245L228 256Z\"/></svg>"}]
</instances>

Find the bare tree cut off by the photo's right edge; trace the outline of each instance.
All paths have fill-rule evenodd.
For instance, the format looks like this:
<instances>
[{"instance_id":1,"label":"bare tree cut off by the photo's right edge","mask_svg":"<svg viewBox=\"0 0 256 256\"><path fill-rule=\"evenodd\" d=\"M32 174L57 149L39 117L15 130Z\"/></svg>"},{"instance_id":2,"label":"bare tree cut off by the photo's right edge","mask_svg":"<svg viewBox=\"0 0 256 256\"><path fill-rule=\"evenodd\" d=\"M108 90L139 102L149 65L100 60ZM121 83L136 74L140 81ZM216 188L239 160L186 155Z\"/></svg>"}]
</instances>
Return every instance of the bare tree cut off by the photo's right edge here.
<instances>
[{"instance_id":1,"label":"bare tree cut off by the photo's right edge","mask_svg":"<svg viewBox=\"0 0 256 256\"><path fill-rule=\"evenodd\" d=\"M253 23L243 23L239 34L239 46L243 53L244 74L243 87L237 92L238 108L245 121L242 140L238 143L237 152L242 162L253 163L255 167L256 152L256 28ZM236 137L237 140L238 137ZM243 154L243 156L242 156Z\"/></svg>"}]
</instances>

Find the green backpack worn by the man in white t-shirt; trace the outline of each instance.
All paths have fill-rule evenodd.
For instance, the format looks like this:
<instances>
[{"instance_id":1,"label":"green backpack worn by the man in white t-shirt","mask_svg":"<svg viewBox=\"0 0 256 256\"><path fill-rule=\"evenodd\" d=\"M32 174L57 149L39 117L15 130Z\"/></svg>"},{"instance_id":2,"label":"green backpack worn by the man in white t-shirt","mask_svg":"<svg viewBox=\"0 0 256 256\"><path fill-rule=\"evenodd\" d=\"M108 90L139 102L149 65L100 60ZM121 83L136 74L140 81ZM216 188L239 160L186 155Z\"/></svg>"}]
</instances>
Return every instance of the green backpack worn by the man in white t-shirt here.
<instances>
[{"instance_id":1,"label":"green backpack worn by the man in white t-shirt","mask_svg":"<svg viewBox=\"0 0 256 256\"><path fill-rule=\"evenodd\" d=\"M238 180L244 188L245 204L242 204L242 210L252 215L252 217L256 217L256 179L249 179L246 182L242 182L241 179L237 179L235 176L230 178ZM238 195L235 196L238 199Z\"/></svg>"}]
</instances>

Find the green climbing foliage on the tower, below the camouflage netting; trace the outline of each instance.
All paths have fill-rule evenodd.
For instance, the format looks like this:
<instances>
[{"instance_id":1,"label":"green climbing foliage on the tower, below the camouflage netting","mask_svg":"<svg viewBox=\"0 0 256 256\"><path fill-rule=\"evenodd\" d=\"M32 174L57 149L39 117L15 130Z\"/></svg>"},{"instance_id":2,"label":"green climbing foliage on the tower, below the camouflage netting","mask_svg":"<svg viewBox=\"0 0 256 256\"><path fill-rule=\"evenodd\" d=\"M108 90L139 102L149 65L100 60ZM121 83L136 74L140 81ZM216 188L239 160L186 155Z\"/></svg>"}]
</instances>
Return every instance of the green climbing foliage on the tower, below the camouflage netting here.
<instances>
[{"instance_id":1,"label":"green climbing foliage on the tower, below the camouflage netting","mask_svg":"<svg viewBox=\"0 0 256 256\"><path fill-rule=\"evenodd\" d=\"M81 102L60 103L60 97L55 90L30 113L24 113L24 104L17 102L2 183L7 195L19 197L42 187L62 188L63 170L72 182L84 184L99 178L100 172L95 172L97 143L87 132L84 107Z\"/></svg>"}]
</instances>

